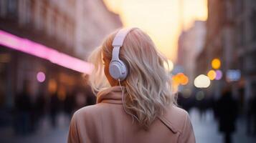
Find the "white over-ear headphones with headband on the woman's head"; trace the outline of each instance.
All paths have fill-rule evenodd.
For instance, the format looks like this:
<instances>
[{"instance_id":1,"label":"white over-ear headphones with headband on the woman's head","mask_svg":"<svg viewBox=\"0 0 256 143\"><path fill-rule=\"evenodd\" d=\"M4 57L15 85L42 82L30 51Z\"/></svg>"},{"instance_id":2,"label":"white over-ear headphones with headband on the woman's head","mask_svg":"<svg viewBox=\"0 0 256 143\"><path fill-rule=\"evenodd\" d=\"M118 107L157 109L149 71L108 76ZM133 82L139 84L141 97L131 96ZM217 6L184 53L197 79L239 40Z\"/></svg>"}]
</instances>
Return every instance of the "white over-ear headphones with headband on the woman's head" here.
<instances>
[{"instance_id":1,"label":"white over-ear headphones with headband on the woman's head","mask_svg":"<svg viewBox=\"0 0 256 143\"><path fill-rule=\"evenodd\" d=\"M109 66L109 73L113 79L123 81L127 77L128 69L125 63L119 59L119 51L120 47L123 46L125 36L133 29L120 29L113 40L112 59Z\"/></svg>"}]
</instances>

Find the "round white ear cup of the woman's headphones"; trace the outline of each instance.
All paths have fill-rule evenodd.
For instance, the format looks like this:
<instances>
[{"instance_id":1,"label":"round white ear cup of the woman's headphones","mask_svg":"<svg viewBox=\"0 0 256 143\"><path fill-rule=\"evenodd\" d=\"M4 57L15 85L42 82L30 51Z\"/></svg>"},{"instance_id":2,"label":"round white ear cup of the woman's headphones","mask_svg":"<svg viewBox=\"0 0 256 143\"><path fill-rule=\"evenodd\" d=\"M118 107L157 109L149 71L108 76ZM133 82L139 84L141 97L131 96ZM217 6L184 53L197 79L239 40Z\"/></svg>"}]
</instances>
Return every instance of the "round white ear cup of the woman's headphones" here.
<instances>
[{"instance_id":1,"label":"round white ear cup of the woman's headphones","mask_svg":"<svg viewBox=\"0 0 256 143\"><path fill-rule=\"evenodd\" d=\"M127 68L123 61L111 61L109 66L109 73L113 79L120 79L122 81L127 76Z\"/></svg>"}]
</instances>

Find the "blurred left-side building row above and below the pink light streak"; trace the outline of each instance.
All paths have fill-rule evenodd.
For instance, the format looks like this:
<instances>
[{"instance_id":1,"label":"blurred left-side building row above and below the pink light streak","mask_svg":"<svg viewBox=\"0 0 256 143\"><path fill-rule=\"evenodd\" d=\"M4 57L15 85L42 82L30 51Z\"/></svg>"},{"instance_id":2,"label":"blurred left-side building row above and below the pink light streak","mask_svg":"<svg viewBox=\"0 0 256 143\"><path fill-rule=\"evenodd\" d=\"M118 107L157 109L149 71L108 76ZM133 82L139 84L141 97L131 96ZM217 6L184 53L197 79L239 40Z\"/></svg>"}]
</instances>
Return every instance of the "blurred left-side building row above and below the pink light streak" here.
<instances>
[{"instance_id":1,"label":"blurred left-side building row above and below the pink light streak","mask_svg":"<svg viewBox=\"0 0 256 143\"><path fill-rule=\"evenodd\" d=\"M1 31L82 60L121 26L102 0L0 0ZM14 107L15 95L25 85L33 98L57 92L64 99L67 92L82 89L82 83L80 72L0 45L0 107Z\"/></svg>"}]
</instances>

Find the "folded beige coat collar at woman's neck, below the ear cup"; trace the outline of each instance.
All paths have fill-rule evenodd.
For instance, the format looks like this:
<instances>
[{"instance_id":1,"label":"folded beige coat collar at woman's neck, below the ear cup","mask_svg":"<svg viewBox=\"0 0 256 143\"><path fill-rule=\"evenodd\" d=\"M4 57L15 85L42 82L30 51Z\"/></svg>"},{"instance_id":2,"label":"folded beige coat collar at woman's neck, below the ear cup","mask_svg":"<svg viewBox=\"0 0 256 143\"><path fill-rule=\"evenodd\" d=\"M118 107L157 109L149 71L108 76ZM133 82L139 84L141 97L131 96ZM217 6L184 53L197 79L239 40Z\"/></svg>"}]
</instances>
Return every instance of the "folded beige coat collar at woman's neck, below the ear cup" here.
<instances>
[{"instance_id":1,"label":"folded beige coat collar at woman's neck, below the ear cup","mask_svg":"<svg viewBox=\"0 0 256 143\"><path fill-rule=\"evenodd\" d=\"M123 89L125 87L122 87ZM120 86L104 89L97 94L97 104L110 103L122 104L122 90Z\"/></svg>"}]
</instances>

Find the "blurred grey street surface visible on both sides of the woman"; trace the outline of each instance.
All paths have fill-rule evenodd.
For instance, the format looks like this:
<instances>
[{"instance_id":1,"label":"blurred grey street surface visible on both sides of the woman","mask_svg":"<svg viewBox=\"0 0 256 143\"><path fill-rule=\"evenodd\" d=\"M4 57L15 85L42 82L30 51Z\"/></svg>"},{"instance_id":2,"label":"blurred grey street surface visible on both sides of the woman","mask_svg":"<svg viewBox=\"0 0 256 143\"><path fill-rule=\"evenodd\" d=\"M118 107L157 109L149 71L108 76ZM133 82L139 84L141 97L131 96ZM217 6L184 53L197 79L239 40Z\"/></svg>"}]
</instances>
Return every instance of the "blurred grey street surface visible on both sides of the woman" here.
<instances>
[{"instance_id":1,"label":"blurred grey street surface visible on both sides of the woman","mask_svg":"<svg viewBox=\"0 0 256 143\"><path fill-rule=\"evenodd\" d=\"M194 127L194 133L196 135L197 143L222 142L222 134L219 134L218 132L217 122L214 120L213 113L211 111L206 112L203 117L200 116L199 111L197 109L191 109L191 112L189 114L191 117L191 122ZM65 119L64 114L59 115L58 122L58 127L56 129L52 129L50 123L47 122L47 118L44 118L44 122L42 122L41 127L37 132L24 136L15 135L11 128L0 128L1 142L67 142L69 124L67 122L67 119ZM256 137L246 135L245 121L241 119L240 122L237 122L237 128L237 132L235 132L235 134L233 135L234 143L256 142Z\"/></svg>"}]
</instances>

